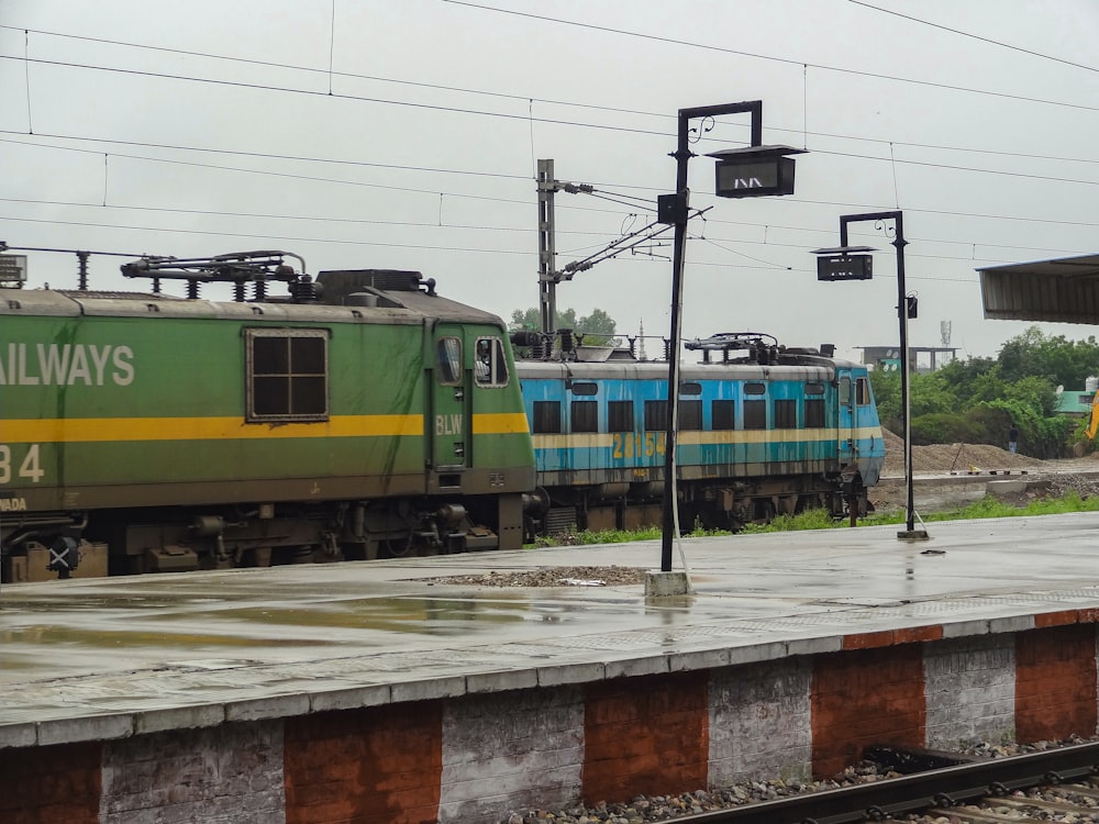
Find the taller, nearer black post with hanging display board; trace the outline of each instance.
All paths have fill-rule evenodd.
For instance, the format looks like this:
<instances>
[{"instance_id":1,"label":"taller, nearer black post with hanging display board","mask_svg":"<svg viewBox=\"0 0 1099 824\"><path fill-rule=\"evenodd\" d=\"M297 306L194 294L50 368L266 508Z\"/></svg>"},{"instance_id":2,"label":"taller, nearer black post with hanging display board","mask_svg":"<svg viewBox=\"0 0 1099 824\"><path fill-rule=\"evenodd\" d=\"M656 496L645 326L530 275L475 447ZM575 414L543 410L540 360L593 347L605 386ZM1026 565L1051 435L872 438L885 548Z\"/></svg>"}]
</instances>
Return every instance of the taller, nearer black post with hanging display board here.
<instances>
[{"instance_id":1,"label":"taller, nearer black post with hanging display board","mask_svg":"<svg viewBox=\"0 0 1099 824\"><path fill-rule=\"evenodd\" d=\"M718 159L714 193L723 198L755 198L768 194L793 193L793 159L788 155L802 154L803 149L790 146L764 146L763 101L719 103L679 110L678 145L671 157L676 158L676 190L657 198L657 220L675 224L671 253L671 332L668 349L668 420L664 444L664 528L660 547L660 571L671 571L671 548L675 533L676 501L676 426L679 412L679 339L682 309L684 254L687 242L689 196L687 164L695 154L689 147L690 122L699 118L722 114L752 114L752 145L745 148L715 152Z\"/></svg>"}]
</instances>

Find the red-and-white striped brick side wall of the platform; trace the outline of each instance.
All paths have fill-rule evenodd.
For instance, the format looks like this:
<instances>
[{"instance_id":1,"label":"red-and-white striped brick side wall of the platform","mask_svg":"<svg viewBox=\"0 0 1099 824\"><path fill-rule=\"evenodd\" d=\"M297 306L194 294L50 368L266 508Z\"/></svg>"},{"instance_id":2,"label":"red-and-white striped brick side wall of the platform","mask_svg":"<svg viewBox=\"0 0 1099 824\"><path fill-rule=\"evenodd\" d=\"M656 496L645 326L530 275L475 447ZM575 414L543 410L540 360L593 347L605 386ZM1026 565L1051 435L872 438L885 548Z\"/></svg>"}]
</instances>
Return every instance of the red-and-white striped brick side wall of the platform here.
<instances>
[{"instance_id":1,"label":"red-and-white striped brick side wall of the platform","mask_svg":"<svg viewBox=\"0 0 1099 824\"><path fill-rule=\"evenodd\" d=\"M554 671L544 687L12 744L0 748L0 822L484 824L531 808L826 777L867 744L1095 734L1096 615L1032 623L946 639L941 627L918 627L845 636L839 648L813 641L803 655L762 648L779 657L710 669L566 684Z\"/></svg>"}]
</instances>

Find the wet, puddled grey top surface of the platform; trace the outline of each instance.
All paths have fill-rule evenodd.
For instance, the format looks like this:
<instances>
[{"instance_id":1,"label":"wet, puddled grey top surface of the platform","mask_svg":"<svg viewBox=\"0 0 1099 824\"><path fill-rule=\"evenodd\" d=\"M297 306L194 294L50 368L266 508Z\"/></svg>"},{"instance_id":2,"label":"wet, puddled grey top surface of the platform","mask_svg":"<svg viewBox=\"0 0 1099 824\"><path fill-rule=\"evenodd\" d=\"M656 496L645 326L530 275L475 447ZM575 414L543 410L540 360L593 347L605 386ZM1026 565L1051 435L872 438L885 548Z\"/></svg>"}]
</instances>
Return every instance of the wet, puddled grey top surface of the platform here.
<instances>
[{"instance_id":1,"label":"wet, puddled grey top surface of the platform","mask_svg":"<svg viewBox=\"0 0 1099 824\"><path fill-rule=\"evenodd\" d=\"M220 723L722 666L762 648L837 648L854 633L1011 631L1099 609L1097 514L928 530L925 542L899 541L896 526L687 538L695 592L670 599L646 600L643 584L440 580L655 570L658 542L4 584L0 746L118 737L196 713Z\"/></svg>"}]
</instances>

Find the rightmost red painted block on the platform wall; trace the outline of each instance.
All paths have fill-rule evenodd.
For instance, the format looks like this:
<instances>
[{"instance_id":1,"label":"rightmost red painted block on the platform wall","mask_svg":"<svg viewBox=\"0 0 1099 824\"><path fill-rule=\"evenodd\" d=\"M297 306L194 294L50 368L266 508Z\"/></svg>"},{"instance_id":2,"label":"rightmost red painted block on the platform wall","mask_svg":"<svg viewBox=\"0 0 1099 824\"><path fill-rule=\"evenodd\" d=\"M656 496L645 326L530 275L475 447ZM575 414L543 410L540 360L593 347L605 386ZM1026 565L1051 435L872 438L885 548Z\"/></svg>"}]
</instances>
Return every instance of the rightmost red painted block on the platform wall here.
<instances>
[{"instance_id":1,"label":"rightmost red painted block on the platform wall","mask_svg":"<svg viewBox=\"0 0 1099 824\"><path fill-rule=\"evenodd\" d=\"M1015 636L1015 739L1095 735L1096 630L1073 624Z\"/></svg>"}]
</instances>

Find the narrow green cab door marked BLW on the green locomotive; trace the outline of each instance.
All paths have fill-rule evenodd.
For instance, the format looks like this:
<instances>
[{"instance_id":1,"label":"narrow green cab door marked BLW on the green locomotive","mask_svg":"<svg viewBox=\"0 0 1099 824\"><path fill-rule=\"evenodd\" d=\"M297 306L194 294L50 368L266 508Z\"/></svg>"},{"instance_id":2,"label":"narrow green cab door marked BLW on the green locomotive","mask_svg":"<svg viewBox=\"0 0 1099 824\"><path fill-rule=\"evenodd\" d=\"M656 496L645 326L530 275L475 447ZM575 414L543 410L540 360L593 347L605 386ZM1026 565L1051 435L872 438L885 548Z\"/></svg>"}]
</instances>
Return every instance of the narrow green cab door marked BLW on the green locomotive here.
<instances>
[{"instance_id":1,"label":"narrow green cab door marked BLW on the green locomotive","mask_svg":"<svg viewBox=\"0 0 1099 824\"><path fill-rule=\"evenodd\" d=\"M462 331L447 324L435 327L435 380L428 426L431 463L436 470L466 466L470 421Z\"/></svg>"}]
</instances>

